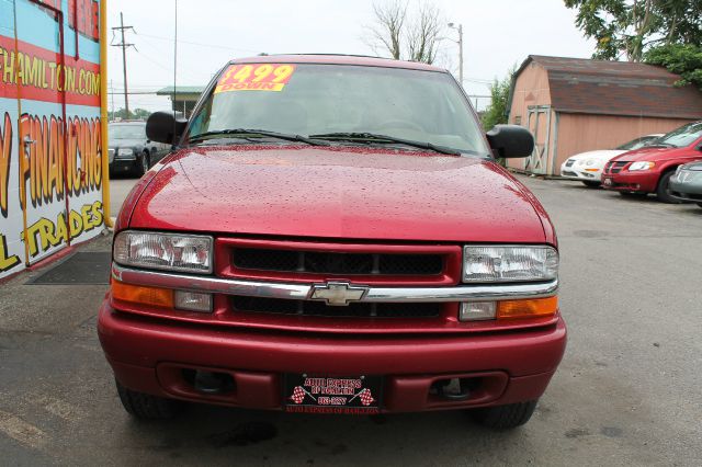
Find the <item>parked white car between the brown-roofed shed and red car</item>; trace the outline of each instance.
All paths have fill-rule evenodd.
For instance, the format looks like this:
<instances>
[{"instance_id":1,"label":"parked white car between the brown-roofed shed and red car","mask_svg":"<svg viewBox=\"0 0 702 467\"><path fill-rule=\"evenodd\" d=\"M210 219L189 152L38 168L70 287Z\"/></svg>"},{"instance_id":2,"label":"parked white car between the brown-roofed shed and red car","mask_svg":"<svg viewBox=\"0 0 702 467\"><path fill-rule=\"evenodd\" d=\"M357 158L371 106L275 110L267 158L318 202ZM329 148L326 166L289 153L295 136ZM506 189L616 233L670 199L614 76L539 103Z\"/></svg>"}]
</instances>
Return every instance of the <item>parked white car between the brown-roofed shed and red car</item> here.
<instances>
[{"instance_id":1,"label":"parked white car between the brown-roofed shed and red car","mask_svg":"<svg viewBox=\"0 0 702 467\"><path fill-rule=\"evenodd\" d=\"M615 149L601 149L570 156L561 166L561 176L564 179L579 180L588 186L600 186L602 170L610 159L626 151L648 146L661 136L661 133L656 133L624 143Z\"/></svg>"}]
</instances>

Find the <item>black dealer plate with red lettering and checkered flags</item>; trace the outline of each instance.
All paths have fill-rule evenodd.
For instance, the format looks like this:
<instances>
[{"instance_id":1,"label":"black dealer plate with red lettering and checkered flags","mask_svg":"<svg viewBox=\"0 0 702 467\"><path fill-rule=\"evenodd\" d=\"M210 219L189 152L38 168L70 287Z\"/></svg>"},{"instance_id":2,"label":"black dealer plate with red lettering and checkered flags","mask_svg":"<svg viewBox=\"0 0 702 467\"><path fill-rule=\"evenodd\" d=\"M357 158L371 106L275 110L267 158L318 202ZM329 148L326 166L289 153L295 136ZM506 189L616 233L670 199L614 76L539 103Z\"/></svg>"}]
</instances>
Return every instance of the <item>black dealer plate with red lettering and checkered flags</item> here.
<instances>
[{"instance_id":1,"label":"black dealer plate with red lettering and checkered flags","mask_svg":"<svg viewBox=\"0 0 702 467\"><path fill-rule=\"evenodd\" d=\"M383 378L286 374L283 389L288 412L372 414L380 411Z\"/></svg>"}]
</instances>

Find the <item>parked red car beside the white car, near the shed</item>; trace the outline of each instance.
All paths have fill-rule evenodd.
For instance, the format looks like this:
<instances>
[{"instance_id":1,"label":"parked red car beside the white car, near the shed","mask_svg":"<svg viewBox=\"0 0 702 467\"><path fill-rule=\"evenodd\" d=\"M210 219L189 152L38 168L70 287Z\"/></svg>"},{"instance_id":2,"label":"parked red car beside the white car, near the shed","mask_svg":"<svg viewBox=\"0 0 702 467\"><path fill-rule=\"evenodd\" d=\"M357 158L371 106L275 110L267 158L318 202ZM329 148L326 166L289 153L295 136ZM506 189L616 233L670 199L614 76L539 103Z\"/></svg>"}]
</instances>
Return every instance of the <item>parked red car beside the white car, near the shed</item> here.
<instances>
[{"instance_id":1,"label":"parked red car beside the white car, near the shed","mask_svg":"<svg viewBox=\"0 0 702 467\"><path fill-rule=\"evenodd\" d=\"M610 160L602 173L602 187L622 195L655 193L664 203L680 203L668 186L676 169L702 159L702 122L683 125L655 143Z\"/></svg>"}]
</instances>

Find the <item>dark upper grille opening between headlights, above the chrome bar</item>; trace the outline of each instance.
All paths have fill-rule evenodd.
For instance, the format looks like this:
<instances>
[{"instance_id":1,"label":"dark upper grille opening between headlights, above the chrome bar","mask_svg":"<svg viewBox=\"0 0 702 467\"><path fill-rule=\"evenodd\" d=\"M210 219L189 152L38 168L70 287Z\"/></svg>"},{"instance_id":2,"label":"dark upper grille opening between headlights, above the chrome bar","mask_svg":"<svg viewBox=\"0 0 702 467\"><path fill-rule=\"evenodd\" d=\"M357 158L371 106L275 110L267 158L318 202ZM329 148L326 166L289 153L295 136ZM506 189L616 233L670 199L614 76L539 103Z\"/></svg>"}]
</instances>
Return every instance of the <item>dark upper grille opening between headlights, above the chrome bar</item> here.
<instances>
[{"instance_id":1,"label":"dark upper grille opening between headlights, above the chrome bar","mask_svg":"<svg viewBox=\"0 0 702 467\"><path fill-rule=\"evenodd\" d=\"M259 248L235 248L234 265L240 270L348 275L439 275L440 254L338 253Z\"/></svg>"}]
</instances>

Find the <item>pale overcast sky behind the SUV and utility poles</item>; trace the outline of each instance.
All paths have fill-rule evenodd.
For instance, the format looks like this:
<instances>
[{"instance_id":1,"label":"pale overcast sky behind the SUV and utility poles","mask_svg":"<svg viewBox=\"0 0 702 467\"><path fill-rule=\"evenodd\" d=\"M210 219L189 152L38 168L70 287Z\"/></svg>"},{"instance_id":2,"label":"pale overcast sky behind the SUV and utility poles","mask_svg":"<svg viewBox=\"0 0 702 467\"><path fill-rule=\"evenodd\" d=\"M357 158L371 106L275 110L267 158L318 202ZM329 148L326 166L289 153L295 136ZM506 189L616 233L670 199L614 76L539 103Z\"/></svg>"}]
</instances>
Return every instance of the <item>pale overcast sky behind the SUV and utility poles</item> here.
<instances>
[{"instance_id":1,"label":"pale overcast sky behind the SUV and utility poles","mask_svg":"<svg viewBox=\"0 0 702 467\"><path fill-rule=\"evenodd\" d=\"M376 2L378 0L375 0ZM381 0L382 1L382 0ZM464 88L472 95L489 94L489 83L505 77L528 55L590 57L593 42L575 26L575 11L563 0L426 0L444 22L463 25ZM178 0L179 86L205 86L229 59L259 53L335 53L375 55L367 44L373 0ZM176 0L107 2L107 25L134 26L126 32L129 107L170 107L168 98L152 94L173 83ZM418 0L409 0L410 10ZM114 33L114 36L113 36ZM444 31L440 65L455 76L457 32ZM110 30L111 44L121 42ZM109 104L124 106L122 49L109 47ZM151 94L149 94L151 93ZM473 100L474 103L476 100ZM484 107L488 99L477 99Z\"/></svg>"}]
</instances>

